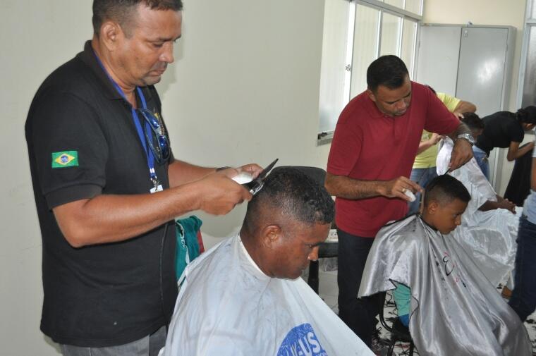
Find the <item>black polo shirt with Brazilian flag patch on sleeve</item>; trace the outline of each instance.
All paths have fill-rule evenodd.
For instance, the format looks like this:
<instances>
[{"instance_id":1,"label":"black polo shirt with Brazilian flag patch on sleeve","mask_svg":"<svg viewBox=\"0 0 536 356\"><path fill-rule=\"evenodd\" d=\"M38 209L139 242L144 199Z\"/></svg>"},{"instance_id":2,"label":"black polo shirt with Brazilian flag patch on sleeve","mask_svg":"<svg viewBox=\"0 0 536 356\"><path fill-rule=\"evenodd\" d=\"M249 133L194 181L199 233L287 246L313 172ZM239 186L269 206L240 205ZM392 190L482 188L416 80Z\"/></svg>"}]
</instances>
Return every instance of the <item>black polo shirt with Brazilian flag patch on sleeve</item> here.
<instances>
[{"instance_id":1,"label":"black polo shirt with Brazilian flag patch on sleeve","mask_svg":"<svg viewBox=\"0 0 536 356\"><path fill-rule=\"evenodd\" d=\"M147 108L160 112L154 87L142 91ZM57 343L104 347L138 340L169 322L177 293L173 221L121 243L73 248L51 211L100 194L152 188L131 106L90 42L39 87L25 133L43 242L41 330ZM168 164L155 164L164 189Z\"/></svg>"}]
</instances>

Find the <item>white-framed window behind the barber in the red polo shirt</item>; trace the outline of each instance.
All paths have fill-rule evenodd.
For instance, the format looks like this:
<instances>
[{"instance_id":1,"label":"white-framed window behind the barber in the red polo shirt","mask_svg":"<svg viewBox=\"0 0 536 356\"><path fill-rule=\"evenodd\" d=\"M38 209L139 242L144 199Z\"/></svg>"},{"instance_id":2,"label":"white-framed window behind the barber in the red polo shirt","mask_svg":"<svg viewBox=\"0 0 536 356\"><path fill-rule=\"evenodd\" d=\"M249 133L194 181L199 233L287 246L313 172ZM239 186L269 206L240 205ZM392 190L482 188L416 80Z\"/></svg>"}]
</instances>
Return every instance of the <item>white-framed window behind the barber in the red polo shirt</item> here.
<instances>
[{"instance_id":1,"label":"white-framed window behind the barber in the red polo shirt","mask_svg":"<svg viewBox=\"0 0 536 356\"><path fill-rule=\"evenodd\" d=\"M330 142L339 114L367 88L367 68L399 56L413 76L423 0L325 0L319 143Z\"/></svg>"}]
</instances>

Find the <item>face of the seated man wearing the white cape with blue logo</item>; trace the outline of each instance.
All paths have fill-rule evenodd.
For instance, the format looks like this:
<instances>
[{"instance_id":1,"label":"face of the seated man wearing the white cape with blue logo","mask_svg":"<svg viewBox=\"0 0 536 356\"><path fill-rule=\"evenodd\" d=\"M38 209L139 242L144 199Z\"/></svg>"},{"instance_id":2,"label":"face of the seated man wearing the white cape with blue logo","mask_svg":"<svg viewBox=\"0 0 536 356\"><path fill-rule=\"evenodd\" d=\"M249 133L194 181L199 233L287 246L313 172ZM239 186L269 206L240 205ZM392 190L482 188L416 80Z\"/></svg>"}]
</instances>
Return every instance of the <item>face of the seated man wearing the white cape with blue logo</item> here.
<instances>
[{"instance_id":1,"label":"face of the seated man wearing the white cape with blue logo","mask_svg":"<svg viewBox=\"0 0 536 356\"><path fill-rule=\"evenodd\" d=\"M281 230L281 235L267 252L272 276L288 279L301 276L309 261L318 259L318 245L326 240L329 227L329 223L310 226L295 221Z\"/></svg>"}]
</instances>

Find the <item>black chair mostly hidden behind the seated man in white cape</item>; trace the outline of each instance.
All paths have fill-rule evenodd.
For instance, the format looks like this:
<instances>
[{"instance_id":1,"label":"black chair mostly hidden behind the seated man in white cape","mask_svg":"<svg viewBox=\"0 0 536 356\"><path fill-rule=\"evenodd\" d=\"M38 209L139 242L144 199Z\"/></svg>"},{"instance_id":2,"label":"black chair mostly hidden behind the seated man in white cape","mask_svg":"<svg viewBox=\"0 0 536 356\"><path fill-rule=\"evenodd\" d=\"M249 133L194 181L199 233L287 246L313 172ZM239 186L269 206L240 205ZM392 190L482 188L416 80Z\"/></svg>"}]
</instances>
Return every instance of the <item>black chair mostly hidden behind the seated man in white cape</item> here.
<instances>
[{"instance_id":1,"label":"black chair mostly hidden behind the seated man in white cape","mask_svg":"<svg viewBox=\"0 0 536 356\"><path fill-rule=\"evenodd\" d=\"M309 167L309 166L279 166L272 170L277 171L281 168L295 168L298 171L304 173L308 177L312 178L319 185L324 186L324 180L326 180L326 171L322 168ZM325 257L337 257L339 250L339 243L321 243L318 248L318 258ZM307 284L315 290L318 294L318 261L311 261L309 264L309 276L307 277Z\"/></svg>"}]
</instances>

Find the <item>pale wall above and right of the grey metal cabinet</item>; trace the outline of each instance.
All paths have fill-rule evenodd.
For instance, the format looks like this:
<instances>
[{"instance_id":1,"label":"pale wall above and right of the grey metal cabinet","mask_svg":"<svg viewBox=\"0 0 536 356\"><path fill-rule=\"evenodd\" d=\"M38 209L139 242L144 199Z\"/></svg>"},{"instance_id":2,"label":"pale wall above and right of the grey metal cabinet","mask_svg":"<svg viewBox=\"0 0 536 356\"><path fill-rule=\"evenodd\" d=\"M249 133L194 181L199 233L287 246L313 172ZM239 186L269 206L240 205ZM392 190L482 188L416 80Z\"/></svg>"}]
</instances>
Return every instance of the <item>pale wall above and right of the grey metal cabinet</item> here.
<instances>
[{"instance_id":1,"label":"pale wall above and right of the grey metal cabinet","mask_svg":"<svg viewBox=\"0 0 536 356\"><path fill-rule=\"evenodd\" d=\"M506 110L517 111L518 73L525 24L526 0L425 0L423 23L458 23L469 21L474 25L509 25L516 27L516 48L514 49L512 80L509 104ZM461 98L470 101L470 98ZM525 142L533 140L525 135ZM497 192L504 195L510 179L513 162L506 161L506 149L499 149L498 159L502 161L501 173L497 177Z\"/></svg>"}]
</instances>

